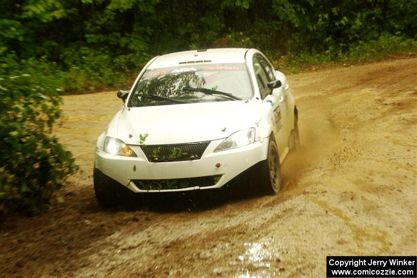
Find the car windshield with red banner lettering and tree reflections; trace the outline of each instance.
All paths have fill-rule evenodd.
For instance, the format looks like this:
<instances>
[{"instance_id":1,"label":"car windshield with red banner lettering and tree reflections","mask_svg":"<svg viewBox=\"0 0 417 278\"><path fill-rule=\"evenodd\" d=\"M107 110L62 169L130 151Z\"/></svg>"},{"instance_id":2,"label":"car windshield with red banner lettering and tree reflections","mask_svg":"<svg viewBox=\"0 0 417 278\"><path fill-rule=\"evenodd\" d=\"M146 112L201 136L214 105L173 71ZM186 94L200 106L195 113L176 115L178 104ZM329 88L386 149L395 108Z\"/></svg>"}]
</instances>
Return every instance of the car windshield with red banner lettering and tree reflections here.
<instances>
[{"instance_id":1,"label":"car windshield with red banner lettering and tree reflections","mask_svg":"<svg viewBox=\"0 0 417 278\"><path fill-rule=\"evenodd\" d=\"M252 85L243 63L183 65L146 70L128 106L236 101L252 96Z\"/></svg>"}]
</instances>

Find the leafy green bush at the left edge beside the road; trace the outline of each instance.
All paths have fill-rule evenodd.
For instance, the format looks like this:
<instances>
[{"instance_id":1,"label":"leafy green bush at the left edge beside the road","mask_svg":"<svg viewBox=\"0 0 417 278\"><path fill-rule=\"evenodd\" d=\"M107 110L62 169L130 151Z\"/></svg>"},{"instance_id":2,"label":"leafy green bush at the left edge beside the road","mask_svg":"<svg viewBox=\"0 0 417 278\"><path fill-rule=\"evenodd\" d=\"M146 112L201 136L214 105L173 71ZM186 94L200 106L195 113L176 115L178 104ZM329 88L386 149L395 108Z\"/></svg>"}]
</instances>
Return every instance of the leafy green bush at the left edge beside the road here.
<instances>
[{"instance_id":1,"label":"leafy green bush at the left edge beside the road","mask_svg":"<svg viewBox=\"0 0 417 278\"><path fill-rule=\"evenodd\" d=\"M50 64L43 75L34 72L33 63L26 61L27 73L15 74L20 70L11 67L17 64L13 57L0 58L0 211L37 213L77 169L52 135L62 89L47 77Z\"/></svg>"}]
</instances>

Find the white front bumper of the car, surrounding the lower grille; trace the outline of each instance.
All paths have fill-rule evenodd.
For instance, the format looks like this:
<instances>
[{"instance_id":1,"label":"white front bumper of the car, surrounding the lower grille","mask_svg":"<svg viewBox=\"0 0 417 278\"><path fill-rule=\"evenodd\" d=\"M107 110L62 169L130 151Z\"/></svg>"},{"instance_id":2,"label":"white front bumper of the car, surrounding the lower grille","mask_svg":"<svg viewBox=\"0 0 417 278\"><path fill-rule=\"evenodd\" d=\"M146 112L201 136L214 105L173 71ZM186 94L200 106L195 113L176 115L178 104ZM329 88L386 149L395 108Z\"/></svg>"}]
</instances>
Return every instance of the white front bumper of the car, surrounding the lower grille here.
<instances>
[{"instance_id":1,"label":"white front bumper of the car, surrounding the lower grille","mask_svg":"<svg viewBox=\"0 0 417 278\"><path fill-rule=\"evenodd\" d=\"M133 192L170 192L196 189L220 188L228 181L249 169L256 163L265 160L268 140L256 141L250 145L223 152L213 150L224 139L210 142L200 159L177 162L149 162L140 146L130 148L137 157L112 155L98 150L95 154L95 167L104 175L120 182ZM220 163L220 167L215 165ZM142 190L134 180L160 180L221 175L212 186L192 186L181 189Z\"/></svg>"}]
</instances>

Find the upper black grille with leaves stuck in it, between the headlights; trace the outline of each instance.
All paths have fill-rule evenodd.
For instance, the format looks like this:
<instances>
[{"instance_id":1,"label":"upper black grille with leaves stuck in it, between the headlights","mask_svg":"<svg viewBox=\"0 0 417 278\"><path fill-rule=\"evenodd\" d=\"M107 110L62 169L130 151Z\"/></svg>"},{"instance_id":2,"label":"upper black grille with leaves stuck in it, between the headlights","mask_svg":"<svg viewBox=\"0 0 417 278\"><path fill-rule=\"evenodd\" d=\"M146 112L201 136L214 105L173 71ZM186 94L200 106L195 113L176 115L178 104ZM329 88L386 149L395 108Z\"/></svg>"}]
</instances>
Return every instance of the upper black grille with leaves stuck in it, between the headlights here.
<instances>
[{"instance_id":1,"label":"upper black grille with leaves stuck in it, between the headlights","mask_svg":"<svg viewBox=\"0 0 417 278\"><path fill-rule=\"evenodd\" d=\"M200 159L210 141L141 146L149 162L186 161Z\"/></svg>"}]
</instances>

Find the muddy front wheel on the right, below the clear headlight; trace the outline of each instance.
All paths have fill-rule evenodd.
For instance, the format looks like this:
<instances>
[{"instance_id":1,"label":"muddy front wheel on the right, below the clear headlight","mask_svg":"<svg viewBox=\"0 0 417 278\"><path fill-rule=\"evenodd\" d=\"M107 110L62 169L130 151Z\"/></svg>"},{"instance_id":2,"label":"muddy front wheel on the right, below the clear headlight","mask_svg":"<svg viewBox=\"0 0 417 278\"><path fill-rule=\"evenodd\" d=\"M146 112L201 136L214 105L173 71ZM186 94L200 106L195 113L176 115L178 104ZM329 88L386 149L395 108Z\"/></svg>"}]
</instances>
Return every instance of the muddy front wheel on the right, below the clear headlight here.
<instances>
[{"instance_id":1,"label":"muddy front wheel on the right, below the clear headlight","mask_svg":"<svg viewBox=\"0 0 417 278\"><path fill-rule=\"evenodd\" d=\"M259 178L262 188L268 194L278 194L281 190L282 178L280 157L275 141L270 139L268 157L260 163Z\"/></svg>"}]
</instances>

